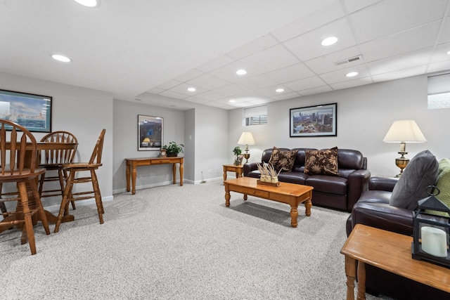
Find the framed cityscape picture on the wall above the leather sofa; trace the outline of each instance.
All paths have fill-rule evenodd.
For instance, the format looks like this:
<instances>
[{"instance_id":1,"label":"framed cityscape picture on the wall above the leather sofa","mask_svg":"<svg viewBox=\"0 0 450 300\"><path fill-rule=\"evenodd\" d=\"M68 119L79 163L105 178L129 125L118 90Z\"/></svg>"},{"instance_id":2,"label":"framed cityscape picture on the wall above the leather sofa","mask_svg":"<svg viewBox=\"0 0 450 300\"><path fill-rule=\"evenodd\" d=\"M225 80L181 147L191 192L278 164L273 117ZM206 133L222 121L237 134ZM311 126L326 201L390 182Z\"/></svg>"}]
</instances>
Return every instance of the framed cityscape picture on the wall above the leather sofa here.
<instances>
[{"instance_id":1,"label":"framed cityscape picture on the wall above the leather sofa","mask_svg":"<svg viewBox=\"0 0 450 300\"><path fill-rule=\"evenodd\" d=\"M338 103L290 109L290 137L338 136Z\"/></svg>"}]
</instances>

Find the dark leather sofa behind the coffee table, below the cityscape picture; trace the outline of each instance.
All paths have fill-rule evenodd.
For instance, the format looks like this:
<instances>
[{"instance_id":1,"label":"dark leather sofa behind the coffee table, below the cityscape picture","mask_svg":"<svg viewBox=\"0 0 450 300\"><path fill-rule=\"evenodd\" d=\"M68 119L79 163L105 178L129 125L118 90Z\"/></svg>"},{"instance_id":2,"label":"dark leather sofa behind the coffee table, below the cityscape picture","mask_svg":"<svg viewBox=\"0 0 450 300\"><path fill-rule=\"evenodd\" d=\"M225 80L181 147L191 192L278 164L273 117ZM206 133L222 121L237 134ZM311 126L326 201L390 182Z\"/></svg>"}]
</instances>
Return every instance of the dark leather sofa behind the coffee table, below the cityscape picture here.
<instances>
[{"instance_id":1,"label":"dark leather sofa behind the coffee table, below the cityscape picture","mask_svg":"<svg viewBox=\"0 0 450 300\"><path fill-rule=\"evenodd\" d=\"M262 152L261 162L268 163L271 149ZM290 150L278 148L278 150ZM339 176L304 174L305 151L313 148L295 148L298 150L293 169L283 171L278 180L288 183L310 185L314 187L312 204L344 211L351 211L361 193L368 188L371 176L367 170L367 159L358 150L338 149ZM257 163L244 164L244 176L259 178Z\"/></svg>"}]
</instances>

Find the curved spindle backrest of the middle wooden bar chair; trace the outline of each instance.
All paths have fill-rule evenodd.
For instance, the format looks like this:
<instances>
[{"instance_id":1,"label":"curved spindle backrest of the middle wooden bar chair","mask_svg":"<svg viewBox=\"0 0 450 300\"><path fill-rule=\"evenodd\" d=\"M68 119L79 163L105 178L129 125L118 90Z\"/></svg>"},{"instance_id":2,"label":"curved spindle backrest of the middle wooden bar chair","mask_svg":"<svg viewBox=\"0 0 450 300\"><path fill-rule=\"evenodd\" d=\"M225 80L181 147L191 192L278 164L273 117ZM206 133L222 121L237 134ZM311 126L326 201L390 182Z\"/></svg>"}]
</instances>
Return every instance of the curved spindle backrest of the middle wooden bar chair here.
<instances>
[{"instance_id":1,"label":"curved spindle backrest of the middle wooden bar chair","mask_svg":"<svg viewBox=\"0 0 450 300\"><path fill-rule=\"evenodd\" d=\"M44 157L39 157L41 164L67 164L73 162L75 153L77 152L78 141L77 138L68 131L53 131L43 138L43 143L74 143L73 147L69 148L55 148L52 150L44 150ZM41 155L41 153L39 153Z\"/></svg>"}]
</instances>

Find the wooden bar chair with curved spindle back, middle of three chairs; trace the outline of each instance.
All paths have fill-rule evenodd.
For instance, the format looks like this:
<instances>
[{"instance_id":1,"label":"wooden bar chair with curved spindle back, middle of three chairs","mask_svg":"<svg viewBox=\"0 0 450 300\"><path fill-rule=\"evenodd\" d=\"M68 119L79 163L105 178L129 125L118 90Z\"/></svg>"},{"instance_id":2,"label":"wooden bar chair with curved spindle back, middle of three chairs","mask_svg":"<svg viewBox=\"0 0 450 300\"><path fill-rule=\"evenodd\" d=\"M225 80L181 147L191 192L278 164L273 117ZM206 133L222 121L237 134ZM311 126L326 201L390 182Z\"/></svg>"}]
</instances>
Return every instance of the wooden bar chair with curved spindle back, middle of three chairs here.
<instances>
[{"instance_id":1,"label":"wooden bar chair with curved spindle back, middle of three chairs","mask_svg":"<svg viewBox=\"0 0 450 300\"><path fill-rule=\"evenodd\" d=\"M39 152L38 156L39 167L46 169L46 172L39 178L39 195L41 198L60 196L62 199L67 176L64 167L73 162L77 152L77 138L68 131L54 131L41 138L41 143L70 144L67 147L43 150ZM55 188L51 182L57 182L59 188ZM48 189L44 189L44 183L48 183ZM72 209L75 209L75 201L72 201Z\"/></svg>"}]
</instances>

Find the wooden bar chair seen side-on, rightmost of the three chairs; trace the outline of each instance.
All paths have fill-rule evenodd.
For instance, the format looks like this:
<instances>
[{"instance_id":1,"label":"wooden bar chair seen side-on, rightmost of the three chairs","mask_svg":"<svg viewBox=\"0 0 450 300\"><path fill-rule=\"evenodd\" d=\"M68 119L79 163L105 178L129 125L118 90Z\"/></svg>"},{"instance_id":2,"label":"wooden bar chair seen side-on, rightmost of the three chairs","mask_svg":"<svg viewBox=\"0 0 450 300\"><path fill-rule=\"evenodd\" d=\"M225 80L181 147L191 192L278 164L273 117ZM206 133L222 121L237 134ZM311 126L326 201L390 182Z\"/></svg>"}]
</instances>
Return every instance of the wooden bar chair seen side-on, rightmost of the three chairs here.
<instances>
[{"instance_id":1,"label":"wooden bar chair seen side-on, rightmost of the three chairs","mask_svg":"<svg viewBox=\"0 0 450 300\"><path fill-rule=\"evenodd\" d=\"M97 143L92 151L91 159L89 162L75 162L66 164L64 170L68 172L67 182L65 184L63 201L59 209L58 220L56 221L55 233L58 233L60 223L63 219L64 211L67 211L70 201L91 199L93 196L96 200L98 219L103 224L103 202L101 201L100 188L98 186L98 179L96 175L96 169L101 167L101 155L103 152L103 141L105 139L106 129L103 129L98 136ZM87 176L77 175L79 172L89 172ZM84 173L86 174L86 173ZM91 183L92 190L75 192L73 187L77 183Z\"/></svg>"}]
</instances>

